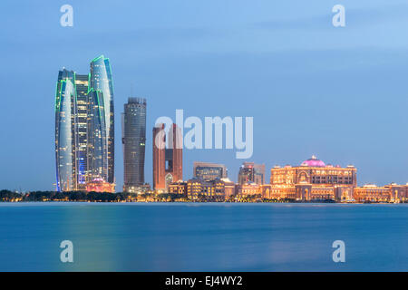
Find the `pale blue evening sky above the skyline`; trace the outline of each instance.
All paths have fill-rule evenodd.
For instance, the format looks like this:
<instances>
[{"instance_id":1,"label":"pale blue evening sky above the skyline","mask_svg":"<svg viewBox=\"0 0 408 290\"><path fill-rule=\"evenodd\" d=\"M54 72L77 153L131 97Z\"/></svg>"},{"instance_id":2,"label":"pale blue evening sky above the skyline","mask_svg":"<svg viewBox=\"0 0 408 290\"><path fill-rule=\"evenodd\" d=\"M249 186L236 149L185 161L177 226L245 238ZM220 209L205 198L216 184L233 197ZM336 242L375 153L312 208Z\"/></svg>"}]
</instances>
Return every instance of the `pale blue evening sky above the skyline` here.
<instances>
[{"instance_id":1,"label":"pale blue evening sky above the skyline","mask_svg":"<svg viewBox=\"0 0 408 290\"><path fill-rule=\"evenodd\" d=\"M73 27L60 24L73 6ZM345 27L332 8L345 6ZM146 181L151 129L160 116L254 118L254 153L184 150L194 160L298 165L313 154L353 164L358 184L405 184L408 134L406 0L152 0L0 2L0 189L55 184L54 99L63 67L89 73L109 57L115 105L115 176L123 182L121 112L147 99Z\"/></svg>"}]
</instances>

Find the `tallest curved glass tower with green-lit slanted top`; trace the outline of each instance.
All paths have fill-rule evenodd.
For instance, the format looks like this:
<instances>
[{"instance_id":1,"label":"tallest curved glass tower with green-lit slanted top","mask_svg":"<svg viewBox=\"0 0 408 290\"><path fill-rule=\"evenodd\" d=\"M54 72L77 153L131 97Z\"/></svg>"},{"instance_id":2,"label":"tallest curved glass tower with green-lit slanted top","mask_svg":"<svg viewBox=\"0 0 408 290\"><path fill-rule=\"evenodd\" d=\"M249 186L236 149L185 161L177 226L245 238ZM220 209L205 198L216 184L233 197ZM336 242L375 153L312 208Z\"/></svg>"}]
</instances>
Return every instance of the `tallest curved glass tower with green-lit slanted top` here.
<instances>
[{"instance_id":1,"label":"tallest curved glass tower with green-lit slanted top","mask_svg":"<svg viewBox=\"0 0 408 290\"><path fill-rule=\"evenodd\" d=\"M114 113L112 72L103 55L91 62L89 75L88 167L90 179L114 183Z\"/></svg>"}]
</instances>

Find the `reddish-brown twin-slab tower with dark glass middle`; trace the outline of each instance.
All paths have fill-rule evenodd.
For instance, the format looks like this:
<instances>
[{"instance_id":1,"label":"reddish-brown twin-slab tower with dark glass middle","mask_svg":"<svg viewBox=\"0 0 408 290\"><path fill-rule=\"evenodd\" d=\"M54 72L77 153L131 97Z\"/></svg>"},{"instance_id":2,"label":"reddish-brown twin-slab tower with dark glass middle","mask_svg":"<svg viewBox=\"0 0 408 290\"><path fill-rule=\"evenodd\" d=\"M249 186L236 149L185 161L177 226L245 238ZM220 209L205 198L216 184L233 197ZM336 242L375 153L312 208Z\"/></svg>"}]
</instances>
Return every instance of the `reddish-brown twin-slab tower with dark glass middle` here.
<instances>
[{"instance_id":1,"label":"reddish-brown twin-slab tower with dark glass middle","mask_svg":"<svg viewBox=\"0 0 408 290\"><path fill-rule=\"evenodd\" d=\"M183 179L181 131L176 124L169 130L168 146L164 124L153 128L153 189L167 190L171 182Z\"/></svg>"}]
</instances>

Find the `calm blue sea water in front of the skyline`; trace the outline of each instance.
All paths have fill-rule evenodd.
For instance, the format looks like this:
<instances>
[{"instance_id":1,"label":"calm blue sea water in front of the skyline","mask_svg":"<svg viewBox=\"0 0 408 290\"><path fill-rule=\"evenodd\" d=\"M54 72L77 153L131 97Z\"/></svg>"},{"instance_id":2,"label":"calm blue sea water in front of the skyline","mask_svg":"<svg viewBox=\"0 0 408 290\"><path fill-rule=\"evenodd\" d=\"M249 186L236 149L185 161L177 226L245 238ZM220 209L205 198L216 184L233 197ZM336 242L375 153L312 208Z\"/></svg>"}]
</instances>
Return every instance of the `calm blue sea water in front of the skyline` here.
<instances>
[{"instance_id":1,"label":"calm blue sea water in front of the skyline","mask_svg":"<svg viewBox=\"0 0 408 290\"><path fill-rule=\"evenodd\" d=\"M407 205L0 203L0 271L408 271L407 245Z\"/></svg>"}]
</instances>

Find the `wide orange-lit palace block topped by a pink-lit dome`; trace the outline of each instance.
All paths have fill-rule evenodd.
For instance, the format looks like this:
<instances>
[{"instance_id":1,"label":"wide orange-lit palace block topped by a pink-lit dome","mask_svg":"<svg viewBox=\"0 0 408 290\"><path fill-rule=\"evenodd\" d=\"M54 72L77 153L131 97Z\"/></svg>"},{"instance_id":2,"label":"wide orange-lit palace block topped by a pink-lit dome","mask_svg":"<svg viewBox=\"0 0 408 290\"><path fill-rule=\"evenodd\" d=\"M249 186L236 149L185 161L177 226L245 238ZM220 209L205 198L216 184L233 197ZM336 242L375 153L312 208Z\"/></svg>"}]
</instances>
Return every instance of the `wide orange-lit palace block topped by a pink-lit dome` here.
<instances>
[{"instance_id":1,"label":"wide orange-lit palace block topped by a pink-lit dome","mask_svg":"<svg viewBox=\"0 0 408 290\"><path fill-rule=\"evenodd\" d=\"M334 167L312 156L299 166L271 169L269 198L335 200L348 196L356 184L357 169L354 166Z\"/></svg>"}]
</instances>

